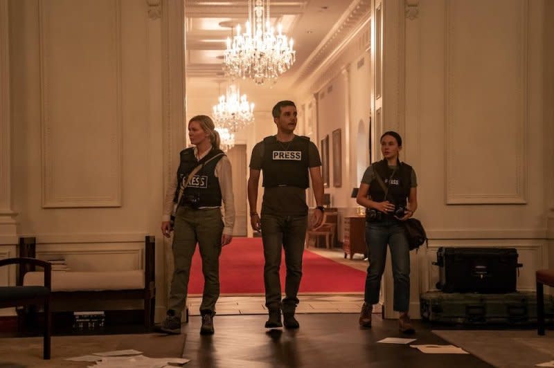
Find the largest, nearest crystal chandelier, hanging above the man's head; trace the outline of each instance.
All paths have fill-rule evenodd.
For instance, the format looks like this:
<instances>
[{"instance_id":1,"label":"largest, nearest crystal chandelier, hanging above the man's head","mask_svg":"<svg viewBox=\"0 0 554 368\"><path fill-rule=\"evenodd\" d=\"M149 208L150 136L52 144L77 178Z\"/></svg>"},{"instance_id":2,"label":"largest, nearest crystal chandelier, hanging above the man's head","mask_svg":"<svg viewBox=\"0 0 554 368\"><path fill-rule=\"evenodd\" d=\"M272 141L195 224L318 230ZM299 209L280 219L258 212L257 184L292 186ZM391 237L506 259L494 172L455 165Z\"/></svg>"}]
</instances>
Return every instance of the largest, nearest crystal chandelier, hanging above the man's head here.
<instances>
[{"instance_id":1,"label":"largest, nearest crystal chandelier, hanging above the man's head","mask_svg":"<svg viewBox=\"0 0 554 368\"><path fill-rule=\"evenodd\" d=\"M224 71L234 77L249 77L257 84L275 80L294 63L293 44L283 35L280 24L277 35L270 26L269 0L249 0L246 30L240 33L238 25L233 39L227 38Z\"/></svg>"}]
</instances>

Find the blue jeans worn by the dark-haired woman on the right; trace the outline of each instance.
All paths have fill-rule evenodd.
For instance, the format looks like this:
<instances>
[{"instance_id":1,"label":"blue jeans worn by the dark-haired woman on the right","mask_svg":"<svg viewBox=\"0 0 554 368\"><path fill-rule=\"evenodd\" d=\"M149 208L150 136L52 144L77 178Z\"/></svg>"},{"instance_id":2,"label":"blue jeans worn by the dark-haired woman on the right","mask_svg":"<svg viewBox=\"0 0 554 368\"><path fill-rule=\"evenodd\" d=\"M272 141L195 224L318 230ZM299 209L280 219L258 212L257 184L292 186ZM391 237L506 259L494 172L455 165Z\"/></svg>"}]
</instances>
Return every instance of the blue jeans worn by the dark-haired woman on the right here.
<instances>
[{"instance_id":1,"label":"blue jeans worn by the dark-haired woman on the right","mask_svg":"<svg viewBox=\"0 0 554 368\"><path fill-rule=\"evenodd\" d=\"M395 311L405 312L410 301L410 249L404 228L396 220L366 222L366 244L369 266L364 300L368 304L379 302L381 277L385 269L386 245L391 248L393 263Z\"/></svg>"}]
</instances>

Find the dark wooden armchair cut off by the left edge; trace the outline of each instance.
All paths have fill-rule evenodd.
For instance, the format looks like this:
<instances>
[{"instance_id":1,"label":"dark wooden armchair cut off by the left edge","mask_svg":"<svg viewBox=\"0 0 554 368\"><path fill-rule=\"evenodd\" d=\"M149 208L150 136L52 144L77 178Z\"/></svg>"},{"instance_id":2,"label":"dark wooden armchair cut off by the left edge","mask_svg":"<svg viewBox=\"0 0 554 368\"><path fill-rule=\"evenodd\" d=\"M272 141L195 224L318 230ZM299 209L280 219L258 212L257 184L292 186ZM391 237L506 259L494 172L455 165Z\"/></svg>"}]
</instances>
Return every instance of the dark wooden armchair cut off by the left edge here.
<instances>
[{"instance_id":1,"label":"dark wooden armchair cut off by the left edge","mask_svg":"<svg viewBox=\"0 0 554 368\"><path fill-rule=\"evenodd\" d=\"M44 268L44 286L0 286L0 308L10 306L31 306L42 304L44 306L44 359L50 359L51 337L51 275L52 266L46 261L34 258L7 258L0 260L0 266L19 264L24 266L39 266Z\"/></svg>"}]
</instances>

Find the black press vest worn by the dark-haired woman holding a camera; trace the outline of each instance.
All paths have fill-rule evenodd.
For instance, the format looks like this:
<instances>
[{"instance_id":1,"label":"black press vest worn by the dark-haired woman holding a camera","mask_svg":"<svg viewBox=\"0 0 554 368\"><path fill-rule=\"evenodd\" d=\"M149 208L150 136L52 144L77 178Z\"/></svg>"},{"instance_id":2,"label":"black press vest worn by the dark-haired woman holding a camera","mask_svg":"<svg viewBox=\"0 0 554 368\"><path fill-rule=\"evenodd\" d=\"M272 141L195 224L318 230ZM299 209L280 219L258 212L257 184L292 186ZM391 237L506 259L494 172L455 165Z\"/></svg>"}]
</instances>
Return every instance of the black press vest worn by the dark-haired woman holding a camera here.
<instances>
[{"instance_id":1,"label":"black press vest worn by the dark-haired woman holding a camera","mask_svg":"<svg viewBox=\"0 0 554 368\"><path fill-rule=\"evenodd\" d=\"M411 188L412 167L399 161L396 169L391 169L388 167L387 160L381 160L373 164L373 170L375 174L379 174L383 183L388 186L386 200L396 206L406 207L406 198L409 196ZM376 177L369 183L369 195L375 202L385 201L385 192Z\"/></svg>"}]
</instances>

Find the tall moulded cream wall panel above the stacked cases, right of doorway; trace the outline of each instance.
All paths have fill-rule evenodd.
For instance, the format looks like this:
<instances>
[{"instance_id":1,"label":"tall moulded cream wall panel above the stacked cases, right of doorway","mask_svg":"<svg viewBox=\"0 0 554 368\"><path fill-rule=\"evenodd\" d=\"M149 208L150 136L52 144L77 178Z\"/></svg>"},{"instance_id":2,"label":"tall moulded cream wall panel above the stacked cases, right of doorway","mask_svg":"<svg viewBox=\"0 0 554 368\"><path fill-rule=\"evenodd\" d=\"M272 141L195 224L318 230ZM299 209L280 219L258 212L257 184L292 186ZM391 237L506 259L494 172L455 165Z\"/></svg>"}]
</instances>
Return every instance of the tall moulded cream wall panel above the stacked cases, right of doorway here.
<instances>
[{"instance_id":1,"label":"tall moulded cream wall panel above the stacked cases, right of doorway","mask_svg":"<svg viewBox=\"0 0 554 368\"><path fill-rule=\"evenodd\" d=\"M445 4L447 203L526 203L528 2Z\"/></svg>"}]
</instances>

